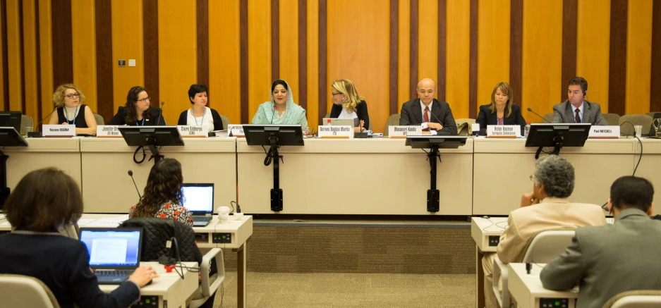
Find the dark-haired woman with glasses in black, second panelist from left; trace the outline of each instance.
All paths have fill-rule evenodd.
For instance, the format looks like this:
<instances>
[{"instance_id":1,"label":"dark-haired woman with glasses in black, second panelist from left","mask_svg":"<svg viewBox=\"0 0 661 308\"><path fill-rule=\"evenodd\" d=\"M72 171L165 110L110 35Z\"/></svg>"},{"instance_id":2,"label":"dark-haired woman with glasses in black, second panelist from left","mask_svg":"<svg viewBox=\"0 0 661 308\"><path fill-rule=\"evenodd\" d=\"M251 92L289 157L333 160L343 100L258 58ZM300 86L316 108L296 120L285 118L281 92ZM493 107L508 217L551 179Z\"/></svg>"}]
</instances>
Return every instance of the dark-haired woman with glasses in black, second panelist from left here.
<instances>
[{"instance_id":1,"label":"dark-haired woman with glasses in black, second panelist from left","mask_svg":"<svg viewBox=\"0 0 661 308\"><path fill-rule=\"evenodd\" d=\"M149 94L136 85L128 90L126 105L119 107L108 125L154 126L165 125L161 109L150 107Z\"/></svg>"}]
</instances>

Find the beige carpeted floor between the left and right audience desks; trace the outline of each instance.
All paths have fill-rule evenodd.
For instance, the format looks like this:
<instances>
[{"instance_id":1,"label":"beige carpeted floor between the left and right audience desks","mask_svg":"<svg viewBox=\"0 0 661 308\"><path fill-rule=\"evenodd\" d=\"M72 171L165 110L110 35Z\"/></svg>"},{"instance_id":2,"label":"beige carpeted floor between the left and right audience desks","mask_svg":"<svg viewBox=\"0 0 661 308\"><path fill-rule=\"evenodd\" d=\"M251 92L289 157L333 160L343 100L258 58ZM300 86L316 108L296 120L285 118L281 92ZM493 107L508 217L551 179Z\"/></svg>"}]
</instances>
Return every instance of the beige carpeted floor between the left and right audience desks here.
<instances>
[{"instance_id":1,"label":"beige carpeted floor between the left and right audience desks","mask_svg":"<svg viewBox=\"0 0 661 308\"><path fill-rule=\"evenodd\" d=\"M236 272L226 273L221 290L214 307L236 307ZM475 306L475 275L248 272L247 294L247 307L260 308L463 308Z\"/></svg>"}]
</instances>

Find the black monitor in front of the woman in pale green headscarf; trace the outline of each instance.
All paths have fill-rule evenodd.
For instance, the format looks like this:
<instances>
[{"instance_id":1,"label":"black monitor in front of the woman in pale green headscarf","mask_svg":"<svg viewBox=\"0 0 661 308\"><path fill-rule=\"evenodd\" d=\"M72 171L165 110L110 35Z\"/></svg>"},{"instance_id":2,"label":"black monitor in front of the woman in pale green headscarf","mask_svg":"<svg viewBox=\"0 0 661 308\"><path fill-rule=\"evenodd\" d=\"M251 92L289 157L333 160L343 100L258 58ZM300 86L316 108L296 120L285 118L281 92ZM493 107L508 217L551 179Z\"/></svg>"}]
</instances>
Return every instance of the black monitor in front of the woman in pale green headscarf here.
<instances>
[{"instance_id":1,"label":"black monitor in front of the woman in pale green headscarf","mask_svg":"<svg viewBox=\"0 0 661 308\"><path fill-rule=\"evenodd\" d=\"M271 145L270 138L276 137L277 145L303 144L301 125L243 125L248 145Z\"/></svg>"}]
</instances>

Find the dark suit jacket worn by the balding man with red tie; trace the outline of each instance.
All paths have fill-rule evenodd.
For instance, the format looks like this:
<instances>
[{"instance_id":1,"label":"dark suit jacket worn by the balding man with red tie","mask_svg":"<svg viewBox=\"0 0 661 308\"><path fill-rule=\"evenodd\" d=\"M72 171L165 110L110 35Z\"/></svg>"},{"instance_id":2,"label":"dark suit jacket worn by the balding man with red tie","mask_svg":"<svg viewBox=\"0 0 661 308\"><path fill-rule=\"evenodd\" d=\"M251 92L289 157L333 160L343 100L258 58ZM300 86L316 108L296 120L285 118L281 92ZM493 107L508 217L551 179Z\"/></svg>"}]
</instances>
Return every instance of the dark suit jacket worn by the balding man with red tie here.
<instances>
[{"instance_id":1,"label":"dark suit jacket worn by the balding man with red tie","mask_svg":"<svg viewBox=\"0 0 661 308\"><path fill-rule=\"evenodd\" d=\"M437 99L432 101L432 112L429 121L443 125L443 129L439 130L439 132L456 135L456 122L452 116L450 105L447 102L437 101ZM406 101L404 105L401 105L399 125L420 125L422 123L423 113L422 109L420 109L420 99Z\"/></svg>"}]
</instances>

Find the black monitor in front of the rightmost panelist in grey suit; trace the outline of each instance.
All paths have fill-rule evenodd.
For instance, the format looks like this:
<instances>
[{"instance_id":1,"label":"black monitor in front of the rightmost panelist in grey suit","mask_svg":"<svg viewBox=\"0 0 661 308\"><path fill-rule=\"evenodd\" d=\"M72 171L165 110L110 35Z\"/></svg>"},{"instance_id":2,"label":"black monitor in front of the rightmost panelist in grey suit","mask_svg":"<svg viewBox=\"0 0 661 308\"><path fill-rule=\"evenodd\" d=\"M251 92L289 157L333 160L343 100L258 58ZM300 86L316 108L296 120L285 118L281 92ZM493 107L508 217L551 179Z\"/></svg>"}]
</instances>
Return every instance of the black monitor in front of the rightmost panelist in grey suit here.
<instances>
[{"instance_id":1,"label":"black monitor in front of the rightmost panelist in grey suit","mask_svg":"<svg viewBox=\"0 0 661 308\"><path fill-rule=\"evenodd\" d=\"M526 147L583 147L590 135L590 123L533 123L530 125Z\"/></svg>"}]
</instances>

